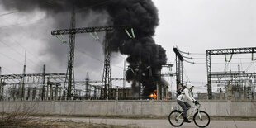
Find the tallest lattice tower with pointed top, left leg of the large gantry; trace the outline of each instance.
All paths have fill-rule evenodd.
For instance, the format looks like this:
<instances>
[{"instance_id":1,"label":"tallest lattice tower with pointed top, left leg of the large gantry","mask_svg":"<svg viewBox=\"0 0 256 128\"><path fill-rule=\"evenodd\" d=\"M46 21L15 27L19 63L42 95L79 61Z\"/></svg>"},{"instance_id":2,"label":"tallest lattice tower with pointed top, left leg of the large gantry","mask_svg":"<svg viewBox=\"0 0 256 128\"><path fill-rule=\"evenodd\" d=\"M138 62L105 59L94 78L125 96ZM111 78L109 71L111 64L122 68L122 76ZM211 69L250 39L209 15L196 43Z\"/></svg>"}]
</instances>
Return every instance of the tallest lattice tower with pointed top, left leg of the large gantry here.
<instances>
[{"instance_id":1,"label":"tallest lattice tower with pointed top, left leg of the large gantry","mask_svg":"<svg viewBox=\"0 0 256 128\"><path fill-rule=\"evenodd\" d=\"M70 23L70 29L75 29L75 7L73 5L72 9L72 18ZM73 73L73 60L74 60L74 45L75 45L75 33L71 33L69 35L69 60L68 60L68 68L67 68L67 76L68 78L68 96L67 99L70 100L72 97L72 90L74 91L74 73ZM72 89L73 88L73 89Z\"/></svg>"}]
</instances>

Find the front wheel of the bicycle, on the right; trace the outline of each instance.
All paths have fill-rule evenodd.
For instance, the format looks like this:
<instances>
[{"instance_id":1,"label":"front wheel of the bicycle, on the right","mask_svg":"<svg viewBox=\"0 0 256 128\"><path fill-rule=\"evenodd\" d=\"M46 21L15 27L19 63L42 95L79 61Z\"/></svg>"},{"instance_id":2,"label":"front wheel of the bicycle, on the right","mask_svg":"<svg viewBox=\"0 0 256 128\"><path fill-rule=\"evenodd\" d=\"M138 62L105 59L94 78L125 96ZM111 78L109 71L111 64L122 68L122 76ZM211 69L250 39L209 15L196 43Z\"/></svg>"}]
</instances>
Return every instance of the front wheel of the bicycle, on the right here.
<instances>
[{"instance_id":1,"label":"front wheel of the bicycle, on the right","mask_svg":"<svg viewBox=\"0 0 256 128\"><path fill-rule=\"evenodd\" d=\"M197 111L193 116L193 121L198 127L206 127L210 123L210 116L205 111Z\"/></svg>"}]
</instances>

